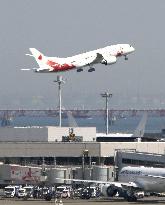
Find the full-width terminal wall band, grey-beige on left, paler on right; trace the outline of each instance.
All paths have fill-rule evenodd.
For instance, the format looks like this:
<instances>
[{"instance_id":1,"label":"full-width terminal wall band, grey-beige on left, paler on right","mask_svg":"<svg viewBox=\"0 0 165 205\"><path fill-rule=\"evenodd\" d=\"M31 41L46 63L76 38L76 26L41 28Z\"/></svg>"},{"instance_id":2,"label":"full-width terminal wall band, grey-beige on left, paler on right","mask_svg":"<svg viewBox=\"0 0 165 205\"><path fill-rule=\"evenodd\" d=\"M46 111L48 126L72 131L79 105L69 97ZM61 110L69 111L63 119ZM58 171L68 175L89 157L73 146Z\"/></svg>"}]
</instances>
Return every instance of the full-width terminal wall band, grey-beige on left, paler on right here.
<instances>
[{"instance_id":1,"label":"full-width terminal wall band, grey-beige on left, paler on right","mask_svg":"<svg viewBox=\"0 0 165 205\"><path fill-rule=\"evenodd\" d=\"M114 157L117 149L164 154L165 142L1 142L0 157Z\"/></svg>"}]
</instances>

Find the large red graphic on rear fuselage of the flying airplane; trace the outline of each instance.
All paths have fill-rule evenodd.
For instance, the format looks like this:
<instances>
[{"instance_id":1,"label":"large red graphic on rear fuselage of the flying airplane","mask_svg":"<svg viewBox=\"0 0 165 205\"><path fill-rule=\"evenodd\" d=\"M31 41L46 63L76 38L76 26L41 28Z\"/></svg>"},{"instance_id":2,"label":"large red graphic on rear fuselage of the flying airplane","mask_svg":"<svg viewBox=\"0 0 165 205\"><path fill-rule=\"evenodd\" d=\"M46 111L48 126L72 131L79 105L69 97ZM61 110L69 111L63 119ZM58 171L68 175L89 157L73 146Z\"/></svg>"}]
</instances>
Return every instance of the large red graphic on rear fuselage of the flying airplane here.
<instances>
[{"instance_id":1,"label":"large red graphic on rear fuselage of the flying airplane","mask_svg":"<svg viewBox=\"0 0 165 205\"><path fill-rule=\"evenodd\" d=\"M70 64L70 65L67 63L59 64L59 63L56 63L56 62L51 61L51 60L48 60L46 64L53 68L52 72L67 71L67 70L70 70L70 69L76 67L73 64Z\"/></svg>"}]
</instances>

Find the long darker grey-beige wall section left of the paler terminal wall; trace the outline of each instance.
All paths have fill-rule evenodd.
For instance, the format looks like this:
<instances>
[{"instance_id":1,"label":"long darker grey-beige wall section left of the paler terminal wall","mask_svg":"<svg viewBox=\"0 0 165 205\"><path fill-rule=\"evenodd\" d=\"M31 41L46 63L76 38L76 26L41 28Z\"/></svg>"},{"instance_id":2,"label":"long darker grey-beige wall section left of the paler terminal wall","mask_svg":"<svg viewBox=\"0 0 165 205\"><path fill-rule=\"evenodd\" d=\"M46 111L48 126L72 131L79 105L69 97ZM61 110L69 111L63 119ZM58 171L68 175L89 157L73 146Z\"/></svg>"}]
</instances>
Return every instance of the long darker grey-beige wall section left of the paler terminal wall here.
<instances>
[{"instance_id":1,"label":"long darker grey-beige wall section left of the paler terminal wall","mask_svg":"<svg viewBox=\"0 0 165 205\"><path fill-rule=\"evenodd\" d=\"M0 143L0 157L80 157L99 156L99 143Z\"/></svg>"}]
</instances>

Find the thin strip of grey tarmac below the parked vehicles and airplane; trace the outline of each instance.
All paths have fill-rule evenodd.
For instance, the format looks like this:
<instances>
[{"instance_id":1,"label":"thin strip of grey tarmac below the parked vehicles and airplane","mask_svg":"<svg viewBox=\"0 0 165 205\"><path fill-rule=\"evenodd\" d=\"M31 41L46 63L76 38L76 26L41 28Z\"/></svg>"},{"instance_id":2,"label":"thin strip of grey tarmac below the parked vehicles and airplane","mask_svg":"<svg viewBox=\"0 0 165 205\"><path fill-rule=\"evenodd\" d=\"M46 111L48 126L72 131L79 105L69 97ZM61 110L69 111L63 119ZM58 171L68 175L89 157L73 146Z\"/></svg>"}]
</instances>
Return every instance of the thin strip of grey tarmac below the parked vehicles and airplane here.
<instances>
[{"instance_id":1,"label":"thin strip of grey tarmac below the parked vehicles and airplane","mask_svg":"<svg viewBox=\"0 0 165 205\"><path fill-rule=\"evenodd\" d=\"M0 205L59 205L59 200L55 203L55 200L45 201L45 200L34 200L28 199L27 201L18 200L18 199L1 199ZM139 199L137 202L127 202L122 198L115 199L90 199L90 200L80 200L80 199L64 199L60 205L129 205L129 204L165 204L165 197L146 197Z\"/></svg>"}]
</instances>

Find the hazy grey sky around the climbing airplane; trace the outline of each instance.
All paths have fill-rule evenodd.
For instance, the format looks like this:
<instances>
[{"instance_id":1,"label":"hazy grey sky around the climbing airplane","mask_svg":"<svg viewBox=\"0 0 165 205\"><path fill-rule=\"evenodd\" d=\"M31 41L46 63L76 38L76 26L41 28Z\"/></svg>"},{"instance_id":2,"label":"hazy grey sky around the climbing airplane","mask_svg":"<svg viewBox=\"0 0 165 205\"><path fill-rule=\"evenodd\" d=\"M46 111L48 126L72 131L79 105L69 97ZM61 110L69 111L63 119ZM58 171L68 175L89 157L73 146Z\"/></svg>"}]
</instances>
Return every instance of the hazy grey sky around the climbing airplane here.
<instances>
[{"instance_id":1,"label":"hazy grey sky around the climbing airplane","mask_svg":"<svg viewBox=\"0 0 165 205\"><path fill-rule=\"evenodd\" d=\"M1 0L0 109L56 109L56 73L37 67L34 47L46 56L67 57L118 43L136 51L88 73L61 73L66 109L102 109L100 94L112 93L114 109L165 108L164 0Z\"/></svg>"}]
</instances>

